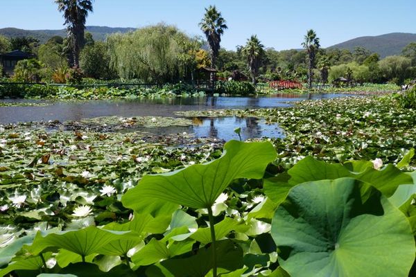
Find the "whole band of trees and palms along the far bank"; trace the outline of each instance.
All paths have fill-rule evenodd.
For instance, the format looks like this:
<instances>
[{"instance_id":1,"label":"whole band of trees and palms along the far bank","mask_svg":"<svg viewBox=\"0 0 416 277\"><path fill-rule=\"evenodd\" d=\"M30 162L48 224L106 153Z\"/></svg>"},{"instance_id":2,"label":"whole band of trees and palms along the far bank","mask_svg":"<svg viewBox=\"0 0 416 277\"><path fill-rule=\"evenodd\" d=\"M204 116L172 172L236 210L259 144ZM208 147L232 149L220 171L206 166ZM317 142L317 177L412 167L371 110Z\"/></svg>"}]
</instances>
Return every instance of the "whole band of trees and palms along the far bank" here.
<instances>
[{"instance_id":1,"label":"whole band of trees and palms along the far bank","mask_svg":"<svg viewBox=\"0 0 416 277\"><path fill-rule=\"evenodd\" d=\"M363 47L354 51L321 48L315 31L307 30L300 44L303 51L266 48L257 35L230 51L220 47L227 22L215 6L205 9L199 23L204 37L190 37L174 26L157 24L95 42L85 33L87 16L93 12L92 0L55 3L64 17L67 37L51 37L40 45L32 37L0 36L0 53L21 50L36 57L18 62L15 79L68 82L88 77L165 83L198 79L200 69L211 68L223 79L248 78L253 83L297 80L311 87L313 82L326 84L339 78L401 84L416 76L416 42L406 46L401 55L381 59Z\"/></svg>"}]
</instances>

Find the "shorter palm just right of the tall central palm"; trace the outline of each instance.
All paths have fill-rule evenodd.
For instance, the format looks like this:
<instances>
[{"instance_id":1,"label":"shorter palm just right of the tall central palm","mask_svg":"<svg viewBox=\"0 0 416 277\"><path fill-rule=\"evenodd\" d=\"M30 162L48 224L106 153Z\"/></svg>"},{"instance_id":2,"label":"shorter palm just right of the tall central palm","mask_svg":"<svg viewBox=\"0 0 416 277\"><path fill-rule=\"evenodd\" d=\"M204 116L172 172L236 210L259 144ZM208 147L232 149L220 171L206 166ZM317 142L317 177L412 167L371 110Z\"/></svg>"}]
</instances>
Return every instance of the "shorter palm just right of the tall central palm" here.
<instances>
[{"instance_id":1,"label":"shorter palm just right of the tall central palm","mask_svg":"<svg viewBox=\"0 0 416 277\"><path fill-rule=\"evenodd\" d=\"M255 84L261 65L261 58L264 55L264 46L260 43L257 35L252 35L247 40L247 44L243 47L243 54L247 56L248 69L252 75L252 82Z\"/></svg>"}]
</instances>

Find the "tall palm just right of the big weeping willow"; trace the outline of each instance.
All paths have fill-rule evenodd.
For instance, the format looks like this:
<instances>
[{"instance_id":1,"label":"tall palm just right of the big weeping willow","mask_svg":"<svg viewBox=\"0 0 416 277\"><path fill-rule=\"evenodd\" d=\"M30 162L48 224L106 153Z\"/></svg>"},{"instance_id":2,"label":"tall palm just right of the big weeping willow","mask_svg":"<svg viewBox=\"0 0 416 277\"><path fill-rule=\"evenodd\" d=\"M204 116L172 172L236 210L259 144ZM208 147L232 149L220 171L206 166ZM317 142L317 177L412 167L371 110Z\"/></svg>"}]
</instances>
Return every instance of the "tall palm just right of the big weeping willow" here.
<instances>
[{"instance_id":1,"label":"tall palm just right of the big weeping willow","mask_svg":"<svg viewBox=\"0 0 416 277\"><path fill-rule=\"evenodd\" d=\"M211 54L211 67L216 68L216 59L220 51L221 35L227 29L225 19L215 6L205 8L204 18L200 21L200 28L205 33ZM214 73L211 73L211 81L214 81Z\"/></svg>"}]
</instances>

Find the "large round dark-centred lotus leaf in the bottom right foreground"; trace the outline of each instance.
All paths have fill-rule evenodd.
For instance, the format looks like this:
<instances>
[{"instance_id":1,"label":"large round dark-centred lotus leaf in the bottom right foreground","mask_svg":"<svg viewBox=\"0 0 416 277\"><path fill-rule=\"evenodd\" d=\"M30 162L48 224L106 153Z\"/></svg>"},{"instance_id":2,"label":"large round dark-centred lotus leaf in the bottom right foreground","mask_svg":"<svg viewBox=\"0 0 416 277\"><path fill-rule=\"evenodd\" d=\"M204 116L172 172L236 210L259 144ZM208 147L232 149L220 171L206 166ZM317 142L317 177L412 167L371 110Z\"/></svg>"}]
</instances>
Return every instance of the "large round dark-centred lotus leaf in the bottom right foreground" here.
<instances>
[{"instance_id":1,"label":"large round dark-centred lotus leaf in the bottom right foreground","mask_svg":"<svg viewBox=\"0 0 416 277\"><path fill-rule=\"evenodd\" d=\"M292 188L271 233L291 276L407 276L415 259L406 217L350 178Z\"/></svg>"}]
</instances>

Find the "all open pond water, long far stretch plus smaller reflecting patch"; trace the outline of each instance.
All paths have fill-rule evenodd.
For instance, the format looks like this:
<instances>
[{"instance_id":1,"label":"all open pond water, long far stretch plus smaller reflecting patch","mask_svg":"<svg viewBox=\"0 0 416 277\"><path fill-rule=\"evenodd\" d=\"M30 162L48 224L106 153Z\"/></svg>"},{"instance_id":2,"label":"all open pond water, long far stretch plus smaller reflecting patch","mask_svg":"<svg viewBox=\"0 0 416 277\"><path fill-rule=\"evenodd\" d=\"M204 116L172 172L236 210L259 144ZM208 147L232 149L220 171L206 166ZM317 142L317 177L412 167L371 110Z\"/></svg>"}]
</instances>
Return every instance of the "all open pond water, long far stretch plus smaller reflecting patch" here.
<instances>
[{"instance_id":1,"label":"all open pond water, long far stretch plus smaller reflecting patch","mask_svg":"<svg viewBox=\"0 0 416 277\"><path fill-rule=\"evenodd\" d=\"M275 94L257 97L189 97L135 100L85 100L85 101L36 101L0 100L8 103L35 103L35 106L0 106L0 124L30 121L79 121L98 116L171 116L175 111L202 111L207 109L254 109L268 107L290 107L291 102L312 99L340 98L346 94ZM39 104L39 105L38 105ZM193 118L193 125L187 127L169 126L135 130L150 134L195 134L196 137L216 139L239 139L234 129L241 127L241 139L283 137L283 130L277 125L267 125L257 118Z\"/></svg>"}]
</instances>

